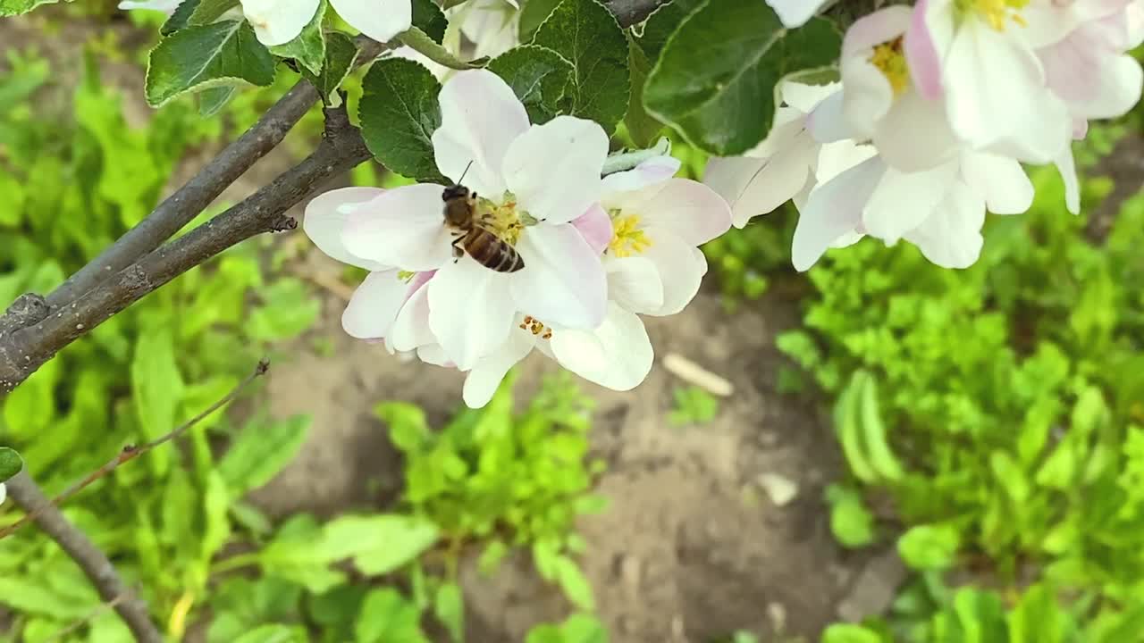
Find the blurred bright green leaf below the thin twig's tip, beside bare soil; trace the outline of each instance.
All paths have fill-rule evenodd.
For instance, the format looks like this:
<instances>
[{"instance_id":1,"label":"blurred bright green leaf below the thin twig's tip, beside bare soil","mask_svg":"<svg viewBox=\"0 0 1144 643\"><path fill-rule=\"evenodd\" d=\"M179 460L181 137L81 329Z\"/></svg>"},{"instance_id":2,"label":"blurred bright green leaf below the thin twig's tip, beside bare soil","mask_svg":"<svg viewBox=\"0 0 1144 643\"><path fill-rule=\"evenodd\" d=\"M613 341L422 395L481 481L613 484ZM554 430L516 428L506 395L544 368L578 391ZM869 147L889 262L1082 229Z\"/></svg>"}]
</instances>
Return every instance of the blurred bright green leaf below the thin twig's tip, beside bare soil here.
<instances>
[{"instance_id":1,"label":"blurred bright green leaf below the thin twig's tip, beside bare soil","mask_svg":"<svg viewBox=\"0 0 1144 643\"><path fill-rule=\"evenodd\" d=\"M309 430L308 415L247 422L219 462L231 497L241 498L277 476L297 455Z\"/></svg>"}]
</instances>

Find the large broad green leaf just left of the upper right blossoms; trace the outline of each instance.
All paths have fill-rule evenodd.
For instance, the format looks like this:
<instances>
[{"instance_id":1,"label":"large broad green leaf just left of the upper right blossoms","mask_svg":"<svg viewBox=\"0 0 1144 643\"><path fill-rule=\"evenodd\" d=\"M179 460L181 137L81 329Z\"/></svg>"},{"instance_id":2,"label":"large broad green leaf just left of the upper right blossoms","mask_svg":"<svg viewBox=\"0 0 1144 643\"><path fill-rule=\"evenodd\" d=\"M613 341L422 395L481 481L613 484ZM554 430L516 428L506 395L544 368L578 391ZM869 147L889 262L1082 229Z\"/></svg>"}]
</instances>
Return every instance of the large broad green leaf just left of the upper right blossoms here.
<instances>
[{"instance_id":1,"label":"large broad green leaf just left of the upper right blossoms","mask_svg":"<svg viewBox=\"0 0 1144 643\"><path fill-rule=\"evenodd\" d=\"M664 47L644 88L648 112L702 150L740 154L770 132L779 81L834 64L841 42L823 18L787 30L765 2L708 0Z\"/></svg>"}]
</instances>

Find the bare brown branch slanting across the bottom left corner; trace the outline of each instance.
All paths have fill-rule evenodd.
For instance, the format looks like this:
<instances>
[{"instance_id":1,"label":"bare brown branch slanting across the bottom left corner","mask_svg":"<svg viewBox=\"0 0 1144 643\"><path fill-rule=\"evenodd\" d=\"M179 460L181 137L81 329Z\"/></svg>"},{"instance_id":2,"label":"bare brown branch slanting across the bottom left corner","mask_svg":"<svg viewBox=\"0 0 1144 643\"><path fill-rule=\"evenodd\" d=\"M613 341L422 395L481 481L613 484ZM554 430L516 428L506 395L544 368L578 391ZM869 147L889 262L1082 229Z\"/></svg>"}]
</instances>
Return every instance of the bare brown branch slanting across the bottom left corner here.
<instances>
[{"instance_id":1,"label":"bare brown branch slanting across the bottom left corner","mask_svg":"<svg viewBox=\"0 0 1144 643\"><path fill-rule=\"evenodd\" d=\"M162 643L162 635L148 616L146 603L129 594L130 589L119 578L108 556L88 540L84 532L64 518L59 509L54 507L40 487L32 482L27 471L19 473L6 484L8 495L17 505L25 511L39 514L37 524L84 570L92 585L100 592L100 596L109 603L114 603L116 612L127 624L135 640L140 643ZM124 598L125 596L128 597Z\"/></svg>"}]
</instances>

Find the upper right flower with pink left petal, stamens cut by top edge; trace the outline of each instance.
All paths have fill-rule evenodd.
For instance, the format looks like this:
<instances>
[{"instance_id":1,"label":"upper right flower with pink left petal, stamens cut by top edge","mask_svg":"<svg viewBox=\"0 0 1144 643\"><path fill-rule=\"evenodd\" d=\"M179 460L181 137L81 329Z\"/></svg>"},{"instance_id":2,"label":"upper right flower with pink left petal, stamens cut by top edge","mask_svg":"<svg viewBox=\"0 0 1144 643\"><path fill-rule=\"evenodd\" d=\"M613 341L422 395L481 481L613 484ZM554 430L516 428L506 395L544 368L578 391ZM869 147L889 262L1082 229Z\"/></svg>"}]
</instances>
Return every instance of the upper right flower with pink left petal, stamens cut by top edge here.
<instances>
[{"instance_id":1,"label":"upper right flower with pink left petal, stamens cut by top edge","mask_svg":"<svg viewBox=\"0 0 1144 643\"><path fill-rule=\"evenodd\" d=\"M1027 0L917 0L905 34L922 96L944 98L950 126L977 150L1049 162L1071 120L1024 33Z\"/></svg>"}]
</instances>

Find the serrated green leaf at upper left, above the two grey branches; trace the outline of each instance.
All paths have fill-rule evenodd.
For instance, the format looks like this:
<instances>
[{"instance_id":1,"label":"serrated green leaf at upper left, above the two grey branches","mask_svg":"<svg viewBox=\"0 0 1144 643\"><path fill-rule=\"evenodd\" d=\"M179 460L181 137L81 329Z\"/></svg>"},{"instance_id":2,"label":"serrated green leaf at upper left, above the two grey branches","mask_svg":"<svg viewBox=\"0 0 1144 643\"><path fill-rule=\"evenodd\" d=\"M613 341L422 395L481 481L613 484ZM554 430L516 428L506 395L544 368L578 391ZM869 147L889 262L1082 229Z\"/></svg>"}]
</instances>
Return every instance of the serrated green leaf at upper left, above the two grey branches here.
<instances>
[{"instance_id":1,"label":"serrated green leaf at upper left, above the two grey branches","mask_svg":"<svg viewBox=\"0 0 1144 643\"><path fill-rule=\"evenodd\" d=\"M160 106L172 98L209 87L275 81L275 57L245 21L182 29L151 50L146 100Z\"/></svg>"}]
</instances>

